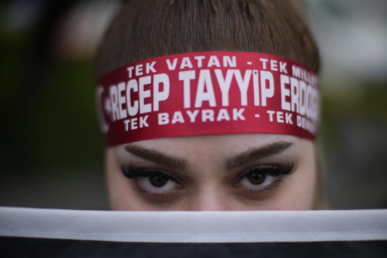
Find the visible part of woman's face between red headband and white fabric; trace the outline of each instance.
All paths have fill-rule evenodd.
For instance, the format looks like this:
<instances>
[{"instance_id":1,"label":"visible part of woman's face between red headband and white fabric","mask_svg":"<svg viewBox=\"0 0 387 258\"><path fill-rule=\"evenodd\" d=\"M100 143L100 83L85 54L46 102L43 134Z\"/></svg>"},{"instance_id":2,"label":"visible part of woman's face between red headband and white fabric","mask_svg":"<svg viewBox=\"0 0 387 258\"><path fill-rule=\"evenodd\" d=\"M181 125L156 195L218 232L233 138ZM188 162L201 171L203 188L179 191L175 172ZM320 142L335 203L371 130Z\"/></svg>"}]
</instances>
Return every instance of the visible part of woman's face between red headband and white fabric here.
<instances>
[{"instance_id":1,"label":"visible part of woman's face between red headband and white fabric","mask_svg":"<svg viewBox=\"0 0 387 258\"><path fill-rule=\"evenodd\" d=\"M309 210L313 142L279 134L159 138L106 151L113 210Z\"/></svg>"}]
</instances>

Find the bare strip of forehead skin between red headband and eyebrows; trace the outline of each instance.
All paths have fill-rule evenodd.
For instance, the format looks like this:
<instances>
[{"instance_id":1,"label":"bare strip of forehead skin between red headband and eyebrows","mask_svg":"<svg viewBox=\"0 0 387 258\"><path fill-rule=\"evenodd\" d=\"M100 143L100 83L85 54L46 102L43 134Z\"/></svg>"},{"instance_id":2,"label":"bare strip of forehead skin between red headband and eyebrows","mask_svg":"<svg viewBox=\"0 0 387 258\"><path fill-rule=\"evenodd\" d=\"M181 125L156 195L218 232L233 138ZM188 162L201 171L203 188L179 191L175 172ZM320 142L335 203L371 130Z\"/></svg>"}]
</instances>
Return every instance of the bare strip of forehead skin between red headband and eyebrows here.
<instances>
[{"instance_id":1,"label":"bare strip of forehead skin between red headband and eyebrows","mask_svg":"<svg viewBox=\"0 0 387 258\"><path fill-rule=\"evenodd\" d=\"M292 150L303 149L305 144L312 144L292 135L270 133L241 133L224 135L200 135L187 137L168 137L143 140L131 143L146 149L156 150L176 157L197 155L233 155L252 148L260 148L277 142L293 143ZM125 153L123 144L115 147L120 153Z\"/></svg>"}]
</instances>

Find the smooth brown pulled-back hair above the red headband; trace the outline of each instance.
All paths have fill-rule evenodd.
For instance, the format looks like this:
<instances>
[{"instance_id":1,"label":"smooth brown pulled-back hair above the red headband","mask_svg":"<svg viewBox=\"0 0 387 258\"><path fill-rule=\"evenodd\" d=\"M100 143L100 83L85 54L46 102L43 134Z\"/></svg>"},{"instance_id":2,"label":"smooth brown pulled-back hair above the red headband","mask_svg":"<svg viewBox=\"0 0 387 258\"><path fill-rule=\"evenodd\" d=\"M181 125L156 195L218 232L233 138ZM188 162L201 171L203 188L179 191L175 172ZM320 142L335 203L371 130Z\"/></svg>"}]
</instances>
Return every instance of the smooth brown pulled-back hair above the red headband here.
<instances>
[{"instance_id":1,"label":"smooth brown pulled-back hair above the red headband","mask_svg":"<svg viewBox=\"0 0 387 258\"><path fill-rule=\"evenodd\" d=\"M195 51L268 53L313 70L319 54L286 0L130 0L113 19L96 75L156 56Z\"/></svg>"}]
</instances>

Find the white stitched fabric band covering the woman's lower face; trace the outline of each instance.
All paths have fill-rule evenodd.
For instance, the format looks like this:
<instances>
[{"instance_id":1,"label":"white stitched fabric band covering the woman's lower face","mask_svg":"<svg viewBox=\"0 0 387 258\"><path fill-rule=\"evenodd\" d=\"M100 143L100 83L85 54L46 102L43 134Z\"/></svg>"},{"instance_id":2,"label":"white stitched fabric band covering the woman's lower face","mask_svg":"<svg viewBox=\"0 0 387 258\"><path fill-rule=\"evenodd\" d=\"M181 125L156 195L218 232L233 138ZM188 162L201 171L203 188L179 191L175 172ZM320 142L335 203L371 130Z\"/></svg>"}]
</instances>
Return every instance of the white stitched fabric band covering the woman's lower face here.
<instances>
[{"instance_id":1,"label":"white stitched fabric band covering the woman's lower face","mask_svg":"<svg viewBox=\"0 0 387 258\"><path fill-rule=\"evenodd\" d=\"M387 240L387 210L116 212L0 207L0 236L161 243Z\"/></svg>"}]
</instances>

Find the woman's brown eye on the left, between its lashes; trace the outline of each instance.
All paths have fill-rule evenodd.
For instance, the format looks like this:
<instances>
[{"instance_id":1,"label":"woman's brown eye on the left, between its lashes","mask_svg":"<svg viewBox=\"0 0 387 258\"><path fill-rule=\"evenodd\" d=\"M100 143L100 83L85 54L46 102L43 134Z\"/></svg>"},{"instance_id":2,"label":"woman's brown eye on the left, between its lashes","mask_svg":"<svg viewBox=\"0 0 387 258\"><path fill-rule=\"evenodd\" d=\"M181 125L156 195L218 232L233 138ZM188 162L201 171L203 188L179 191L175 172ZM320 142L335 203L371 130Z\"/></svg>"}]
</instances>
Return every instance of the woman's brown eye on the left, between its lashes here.
<instances>
[{"instance_id":1,"label":"woman's brown eye on the left, between its lashes","mask_svg":"<svg viewBox=\"0 0 387 258\"><path fill-rule=\"evenodd\" d=\"M178 183L172 181L163 174L153 174L147 177L138 178L140 186L148 191L169 191L178 186Z\"/></svg>"}]
</instances>

